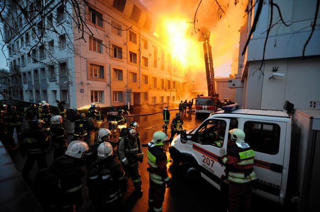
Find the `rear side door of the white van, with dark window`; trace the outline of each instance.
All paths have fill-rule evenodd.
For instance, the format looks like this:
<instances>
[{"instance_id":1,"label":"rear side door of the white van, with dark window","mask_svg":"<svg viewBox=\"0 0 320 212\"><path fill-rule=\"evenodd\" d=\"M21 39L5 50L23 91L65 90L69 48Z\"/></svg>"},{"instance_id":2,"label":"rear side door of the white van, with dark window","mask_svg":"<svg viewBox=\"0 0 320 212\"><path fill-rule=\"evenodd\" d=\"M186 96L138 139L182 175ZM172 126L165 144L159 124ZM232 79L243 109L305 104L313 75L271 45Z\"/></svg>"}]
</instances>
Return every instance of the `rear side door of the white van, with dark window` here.
<instances>
[{"instance_id":1,"label":"rear side door of the white van, with dark window","mask_svg":"<svg viewBox=\"0 0 320 212\"><path fill-rule=\"evenodd\" d=\"M240 128L246 133L245 141L255 151L257 189L254 192L281 203L285 194L281 185L287 123L242 119Z\"/></svg>"}]
</instances>

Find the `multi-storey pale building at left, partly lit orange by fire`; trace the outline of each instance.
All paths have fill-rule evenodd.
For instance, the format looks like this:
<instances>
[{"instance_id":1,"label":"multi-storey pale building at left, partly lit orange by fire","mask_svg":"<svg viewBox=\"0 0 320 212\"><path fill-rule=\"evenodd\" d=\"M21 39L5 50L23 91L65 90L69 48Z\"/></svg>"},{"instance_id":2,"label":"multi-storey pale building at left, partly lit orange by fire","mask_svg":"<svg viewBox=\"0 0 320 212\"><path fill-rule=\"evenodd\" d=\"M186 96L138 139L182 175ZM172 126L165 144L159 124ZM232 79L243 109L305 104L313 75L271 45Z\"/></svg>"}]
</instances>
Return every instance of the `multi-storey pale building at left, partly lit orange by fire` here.
<instances>
[{"instance_id":1,"label":"multi-storey pale building at left, partly lit orange by fire","mask_svg":"<svg viewBox=\"0 0 320 212\"><path fill-rule=\"evenodd\" d=\"M24 0L29 12L35 11L32 19L17 12L13 27L5 25L14 29L6 36L10 68L21 78L15 99L53 106L60 99L78 109L91 103L132 106L180 99L183 72L153 35L156 20L138 0L89 1L79 10L80 25L71 18L77 10L69 1L40 1L42 8L50 4L40 17L34 2Z\"/></svg>"}]
</instances>

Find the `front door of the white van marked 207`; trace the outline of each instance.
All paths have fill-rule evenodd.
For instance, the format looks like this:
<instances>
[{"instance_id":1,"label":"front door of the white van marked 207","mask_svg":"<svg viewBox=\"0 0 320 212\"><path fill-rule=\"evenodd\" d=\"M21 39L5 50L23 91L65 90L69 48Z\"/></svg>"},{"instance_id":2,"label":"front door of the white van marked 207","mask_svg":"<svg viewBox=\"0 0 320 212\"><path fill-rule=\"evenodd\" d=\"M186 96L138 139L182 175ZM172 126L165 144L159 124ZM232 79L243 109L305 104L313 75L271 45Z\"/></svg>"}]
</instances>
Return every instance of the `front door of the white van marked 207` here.
<instances>
[{"instance_id":1,"label":"front door of the white van marked 207","mask_svg":"<svg viewBox=\"0 0 320 212\"><path fill-rule=\"evenodd\" d=\"M201 176L220 189L224 166L218 162L220 149L226 149L229 119L210 118L194 132L192 153L200 167Z\"/></svg>"}]
</instances>

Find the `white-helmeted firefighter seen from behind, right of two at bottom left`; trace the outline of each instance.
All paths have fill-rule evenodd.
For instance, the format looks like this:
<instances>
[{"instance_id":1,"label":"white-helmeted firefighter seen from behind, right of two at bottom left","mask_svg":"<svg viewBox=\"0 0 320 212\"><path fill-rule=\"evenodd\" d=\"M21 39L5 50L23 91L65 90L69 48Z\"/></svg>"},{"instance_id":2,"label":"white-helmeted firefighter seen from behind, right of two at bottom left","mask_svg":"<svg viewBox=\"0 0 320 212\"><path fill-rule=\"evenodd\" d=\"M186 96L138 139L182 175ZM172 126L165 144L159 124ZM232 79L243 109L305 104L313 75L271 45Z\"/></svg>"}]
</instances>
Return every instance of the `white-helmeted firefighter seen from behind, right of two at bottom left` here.
<instances>
[{"instance_id":1,"label":"white-helmeted firefighter seen from behind, right of two at bottom left","mask_svg":"<svg viewBox=\"0 0 320 212\"><path fill-rule=\"evenodd\" d=\"M127 189L127 179L121 162L113 155L109 142L99 144L97 159L88 172L87 185L89 198L97 212L122 211L121 192Z\"/></svg>"}]
</instances>

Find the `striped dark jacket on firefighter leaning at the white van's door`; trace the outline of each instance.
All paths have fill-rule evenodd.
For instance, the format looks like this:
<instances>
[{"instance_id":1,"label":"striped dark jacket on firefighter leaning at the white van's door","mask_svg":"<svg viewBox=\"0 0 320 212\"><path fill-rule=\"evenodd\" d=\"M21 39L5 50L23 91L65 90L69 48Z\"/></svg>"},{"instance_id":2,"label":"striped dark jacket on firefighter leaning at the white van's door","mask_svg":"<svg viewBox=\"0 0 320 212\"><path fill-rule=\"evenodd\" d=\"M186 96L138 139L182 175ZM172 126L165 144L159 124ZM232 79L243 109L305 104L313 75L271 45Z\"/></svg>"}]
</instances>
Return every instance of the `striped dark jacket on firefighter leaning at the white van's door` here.
<instances>
[{"instance_id":1,"label":"striped dark jacket on firefighter leaning at the white van's door","mask_svg":"<svg viewBox=\"0 0 320 212\"><path fill-rule=\"evenodd\" d=\"M254 171L255 153L251 147L240 148L233 145L227 151L227 155L218 158L219 162L225 165L228 171L228 180L236 184L250 183L256 180Z\"/></svg>"}]
</instances>

